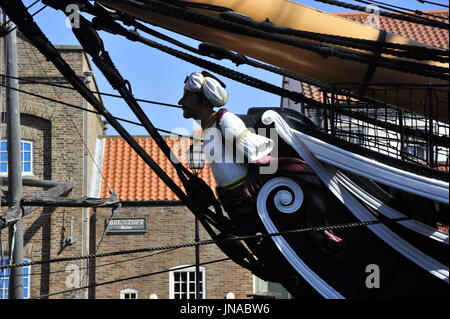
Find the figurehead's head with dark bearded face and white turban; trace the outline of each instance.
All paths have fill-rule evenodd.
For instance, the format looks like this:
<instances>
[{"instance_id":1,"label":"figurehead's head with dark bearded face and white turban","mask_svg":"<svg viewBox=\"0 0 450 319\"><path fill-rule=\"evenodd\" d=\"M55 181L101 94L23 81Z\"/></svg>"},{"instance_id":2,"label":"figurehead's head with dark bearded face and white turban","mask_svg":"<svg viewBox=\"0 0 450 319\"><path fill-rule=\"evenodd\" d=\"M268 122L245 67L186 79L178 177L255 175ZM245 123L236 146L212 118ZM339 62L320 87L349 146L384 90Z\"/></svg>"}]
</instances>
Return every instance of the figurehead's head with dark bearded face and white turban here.
<instances>
[{"instance_id":1,"label":"figurehead's head with dark bearded face and white turban","mask_svg":"<svg viewBox=\"0 0 450 319\"><path fill-rule=\"evenodd\" d=\"M212 74L194 72L184 81L184 94L178 102L185 118L200 119L200 114L227 103L226 85Z\"/></svg>"}]
</instances>

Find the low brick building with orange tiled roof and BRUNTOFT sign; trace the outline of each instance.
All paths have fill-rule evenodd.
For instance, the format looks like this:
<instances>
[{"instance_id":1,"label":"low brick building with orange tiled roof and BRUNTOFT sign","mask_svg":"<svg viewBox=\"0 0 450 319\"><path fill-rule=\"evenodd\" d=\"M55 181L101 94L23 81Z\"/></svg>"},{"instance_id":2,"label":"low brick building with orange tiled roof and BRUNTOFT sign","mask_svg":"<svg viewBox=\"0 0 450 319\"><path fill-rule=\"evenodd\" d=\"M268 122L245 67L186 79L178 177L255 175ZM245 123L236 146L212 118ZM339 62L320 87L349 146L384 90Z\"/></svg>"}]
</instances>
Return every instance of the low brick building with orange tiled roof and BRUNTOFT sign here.
<instances>
[{"instance_id":1,"label":"low brick building with orange tiled roof and BRUNTOFT sign","mask_svg":"<svg viewBox=\"0 0 450 319\"><path fill-rule=\"evenodd\" d=\"M181 186L175 169L164 158L153 139L139 137L137 141L155 159L174 181ZM166 138L169 147L176 155L184 154L183 150L189 146L186 139ZM115 251L145 247L165 246L176 243L194 241L194 215L175 197L170 189L138 158L126 142L120 137L106 137L102 163L103 177L99 195L108 196L109 188L120 194L125 205L135 203L137 207L123 207L114 218L145 218L146 231L141 233L107 233L102 251ZM179 150L177 152L177 150ZM209 167L201 172L208 184L214 187L215 182ZM95 236L102 235L111 209L97 209ZM206 231L200 226L200 239L210 239ZM104 282L113 278L129 277L139 274L153 273L165 269L195 263L195 248L183 248L162 253L156 256L127 262L124 264L96 267L95 281ZM200 247L200 262L207 262L226 257L215 245ZM108 258L109 261L119 261L130 258L119 256ZM106 263L97 260L99 263ZM121 292L134 292L137 298L185 298L194 296L193 281L194 268L162 273L137 280L120 282L113 285L101 286L96 289L97 298L118 298ZM252 294L252 274L236 265L232 261L220 262L202 266L203 291L205 298L225 298L232 292L236 298L248 298Z\"/></svg>"}]
</instances>

